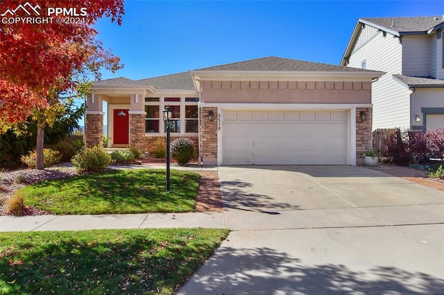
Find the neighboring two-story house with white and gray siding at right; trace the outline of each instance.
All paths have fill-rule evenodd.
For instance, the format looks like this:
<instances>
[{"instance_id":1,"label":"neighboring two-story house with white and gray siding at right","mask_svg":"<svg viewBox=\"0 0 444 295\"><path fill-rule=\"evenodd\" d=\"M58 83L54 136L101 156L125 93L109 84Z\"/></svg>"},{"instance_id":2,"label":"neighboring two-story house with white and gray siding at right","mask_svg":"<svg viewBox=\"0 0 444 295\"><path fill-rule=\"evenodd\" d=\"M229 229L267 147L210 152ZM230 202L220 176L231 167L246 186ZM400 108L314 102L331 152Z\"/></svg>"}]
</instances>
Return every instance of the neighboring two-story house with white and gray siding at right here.
<instances>
[{"instance_id":1,"label":"neighboring two-story house with white and gray siding at right","mask_svg":"<svg viewBox=\"0 0 444 295\"><path fill-rule=\"evenodd\" d=\"M362 18L342 66L386 72L373 83L373 129L444 127L444 16Z\"/></svg>"}]
</instances>

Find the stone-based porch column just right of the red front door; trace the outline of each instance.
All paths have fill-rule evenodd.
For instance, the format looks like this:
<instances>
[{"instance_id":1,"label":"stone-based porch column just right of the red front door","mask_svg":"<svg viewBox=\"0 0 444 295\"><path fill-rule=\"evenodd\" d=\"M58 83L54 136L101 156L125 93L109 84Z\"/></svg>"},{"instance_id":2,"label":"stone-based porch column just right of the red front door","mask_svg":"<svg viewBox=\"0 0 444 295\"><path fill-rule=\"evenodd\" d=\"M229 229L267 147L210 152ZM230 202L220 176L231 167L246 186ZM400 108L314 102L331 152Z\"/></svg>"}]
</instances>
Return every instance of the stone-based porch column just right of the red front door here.
<instances>
[{"instance_id":1,"label":"stone-based porch column just right of the red front door","mask_svg":"<svg viewBox=\"0 0 444 295\"><path fill-rule=\"evenodd\" d=\"M130 102L130 147L145 152L145 105L143 94L131 95Z\"/></svg>"}]
</instances>

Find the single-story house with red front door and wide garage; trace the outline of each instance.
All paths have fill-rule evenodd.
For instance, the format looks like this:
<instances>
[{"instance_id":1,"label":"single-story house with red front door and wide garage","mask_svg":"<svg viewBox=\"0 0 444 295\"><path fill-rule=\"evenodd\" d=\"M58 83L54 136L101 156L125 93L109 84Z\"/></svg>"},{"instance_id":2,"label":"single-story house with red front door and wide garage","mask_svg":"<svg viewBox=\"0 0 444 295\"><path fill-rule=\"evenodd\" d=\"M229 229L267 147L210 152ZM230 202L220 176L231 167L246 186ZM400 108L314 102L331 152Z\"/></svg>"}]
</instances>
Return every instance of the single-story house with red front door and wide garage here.
<instances>
[{"instance_id":1,"label":"single-story house with red front door and wide garage","mask_svg":"<svg viewBox=\"0 0 444 295\"><path fill-rule=\"evenodd\" d=\"M264 57L143 80L94 82L86 145L154 152L165 140L162 110L173 109L171 140L191 138L203 165L359 165L371 147L372 82L384 73Z\"/></svg>"}]
</instances>

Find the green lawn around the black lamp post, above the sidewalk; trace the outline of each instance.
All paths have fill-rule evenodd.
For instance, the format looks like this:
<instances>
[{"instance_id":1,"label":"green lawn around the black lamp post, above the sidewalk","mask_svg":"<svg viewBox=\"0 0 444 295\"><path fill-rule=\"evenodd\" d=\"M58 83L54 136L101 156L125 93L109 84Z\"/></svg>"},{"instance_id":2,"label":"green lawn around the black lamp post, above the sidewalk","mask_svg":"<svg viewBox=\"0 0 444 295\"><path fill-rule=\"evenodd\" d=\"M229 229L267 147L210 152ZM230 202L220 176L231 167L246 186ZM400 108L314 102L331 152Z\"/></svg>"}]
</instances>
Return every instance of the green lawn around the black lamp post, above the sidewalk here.
<instances>
[{"instance_id":1,"label":"green lawn around the black lamp post, above the sidewalk","mask_svg":"<svg viewBox=\"0 0 444 295\"><path fill-rule=\"evenodd\" d=\"M194 211L199 186L196 172L132 169L42 181L21 188L24 204L55 214L113 214Z\"/></svg>"}]
</instances>

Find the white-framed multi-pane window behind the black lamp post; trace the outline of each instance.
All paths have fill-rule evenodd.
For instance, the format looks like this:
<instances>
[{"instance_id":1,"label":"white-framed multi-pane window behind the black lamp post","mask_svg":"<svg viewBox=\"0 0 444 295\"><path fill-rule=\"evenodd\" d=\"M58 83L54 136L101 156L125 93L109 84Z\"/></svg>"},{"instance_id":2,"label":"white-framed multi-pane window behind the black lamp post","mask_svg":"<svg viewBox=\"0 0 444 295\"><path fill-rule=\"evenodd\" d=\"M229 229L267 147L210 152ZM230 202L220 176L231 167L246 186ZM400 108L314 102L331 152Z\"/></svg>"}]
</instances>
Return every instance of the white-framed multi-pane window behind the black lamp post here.
<instances>
[{"instance_id":1,"label":"white-framed multi-pane window behind the black lamp post","mask_svg":"<svg viewBox=\"0 0 444 295\"><path fill-rule=\"evenodd\" d=\"M193 97L145 98L145 132L166 132L161 113L165 107L169 106L173 110L171 132L178 134L198 133L198 102L199 98Z\"/></svg>"}]
</instances>

